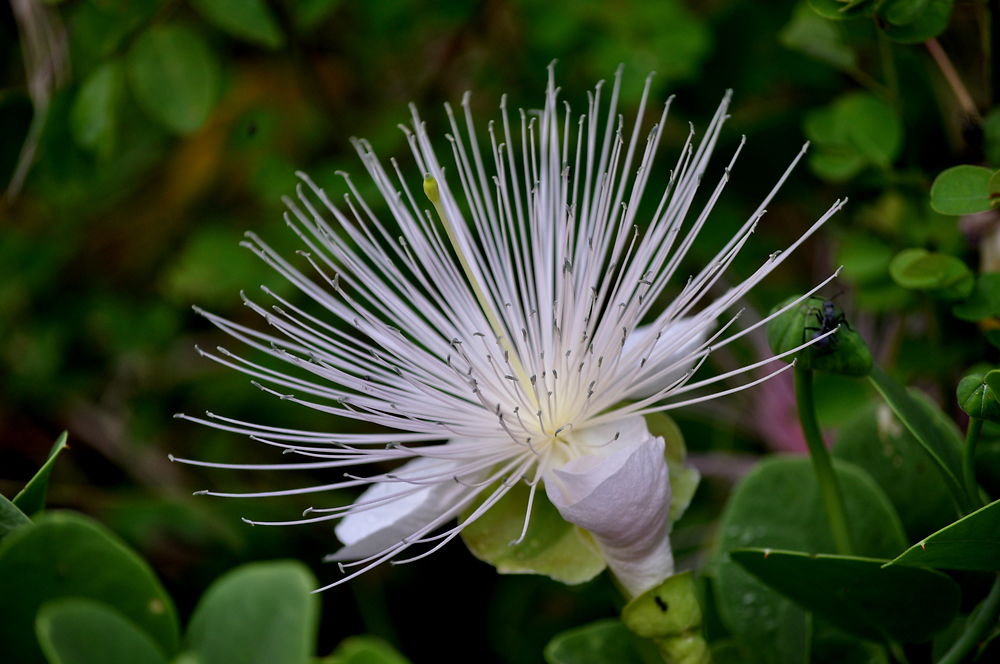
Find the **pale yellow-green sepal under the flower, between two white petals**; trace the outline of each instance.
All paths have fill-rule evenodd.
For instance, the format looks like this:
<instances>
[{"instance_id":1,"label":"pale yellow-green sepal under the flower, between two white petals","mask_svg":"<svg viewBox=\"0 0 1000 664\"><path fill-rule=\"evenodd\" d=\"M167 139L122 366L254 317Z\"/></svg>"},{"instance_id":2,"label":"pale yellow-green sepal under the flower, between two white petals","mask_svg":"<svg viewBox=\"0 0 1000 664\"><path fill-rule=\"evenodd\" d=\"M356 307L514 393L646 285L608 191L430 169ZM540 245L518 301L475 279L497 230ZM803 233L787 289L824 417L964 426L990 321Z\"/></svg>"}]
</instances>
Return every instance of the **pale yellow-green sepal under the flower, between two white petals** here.
<instances>
[{"instance_id":1,"label":"pale yellow-green sepal under the flower, between two white petals","mask_svg":"<svg viewBox=\"0 0 1000 664\"><path fill-rule=\"evenodd\" d=\"M523 483L515 485L462 530L462 541L472 555L501 574L543 574L569 584L583 583L600 574L605 564L596 546L583 531L563 520L544 490L535 491L524 539L512 544L524 526L529 492ZM465 519L478 504L467 508L461 518Z\"/></svg>"}]
</instances>

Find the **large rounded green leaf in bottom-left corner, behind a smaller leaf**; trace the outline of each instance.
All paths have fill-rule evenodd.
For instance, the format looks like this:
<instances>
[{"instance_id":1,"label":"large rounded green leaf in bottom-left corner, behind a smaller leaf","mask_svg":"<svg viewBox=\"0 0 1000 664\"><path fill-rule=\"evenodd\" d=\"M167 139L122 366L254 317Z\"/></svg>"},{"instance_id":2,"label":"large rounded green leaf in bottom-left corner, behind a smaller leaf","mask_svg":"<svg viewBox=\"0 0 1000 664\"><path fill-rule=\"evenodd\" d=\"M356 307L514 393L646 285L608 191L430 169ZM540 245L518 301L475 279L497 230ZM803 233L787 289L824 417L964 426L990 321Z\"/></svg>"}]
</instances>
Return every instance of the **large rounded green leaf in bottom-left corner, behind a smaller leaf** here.
<instances>
[{"instance_id":1,"label":"large rounded green leaf in bottom-left corner, behind a smaller leaf","mask_svg":"<svg viewBox=\"0 0 1000 664\"><path fill-rule=\"evenodd\" d=\"M0 661L42 661L34 637L39 607L62 597L104 602L162 650L177 650L173 602L149 566L97 522L47 512L0 542ZM12 601L10 598L17 598Z\"/></svg>"}]
</instances>

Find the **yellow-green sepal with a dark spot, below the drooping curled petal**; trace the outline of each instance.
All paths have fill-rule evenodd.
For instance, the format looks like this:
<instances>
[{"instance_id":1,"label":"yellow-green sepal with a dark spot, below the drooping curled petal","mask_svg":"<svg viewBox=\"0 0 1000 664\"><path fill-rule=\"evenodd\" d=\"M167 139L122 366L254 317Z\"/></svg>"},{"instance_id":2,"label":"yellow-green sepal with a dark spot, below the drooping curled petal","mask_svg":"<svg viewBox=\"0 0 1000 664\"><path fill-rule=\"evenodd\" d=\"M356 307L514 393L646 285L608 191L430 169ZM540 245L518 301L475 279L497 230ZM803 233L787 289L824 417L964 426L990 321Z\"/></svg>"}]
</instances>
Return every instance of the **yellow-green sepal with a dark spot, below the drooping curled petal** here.
<instances>
[{"instance_id":1,"label":"yellow-green sepal with a dark spot, below the drooping curled petal","mask_svg":"<svg viewBox=\"0 0 1000 664\"><path fill-rule=\"evenodd\" d=\"M702 614L691 572L668 577L622 609L622 622L656 644L674 664L707 664L711 658L701 633Z\"/></svg>"}]
</instances>

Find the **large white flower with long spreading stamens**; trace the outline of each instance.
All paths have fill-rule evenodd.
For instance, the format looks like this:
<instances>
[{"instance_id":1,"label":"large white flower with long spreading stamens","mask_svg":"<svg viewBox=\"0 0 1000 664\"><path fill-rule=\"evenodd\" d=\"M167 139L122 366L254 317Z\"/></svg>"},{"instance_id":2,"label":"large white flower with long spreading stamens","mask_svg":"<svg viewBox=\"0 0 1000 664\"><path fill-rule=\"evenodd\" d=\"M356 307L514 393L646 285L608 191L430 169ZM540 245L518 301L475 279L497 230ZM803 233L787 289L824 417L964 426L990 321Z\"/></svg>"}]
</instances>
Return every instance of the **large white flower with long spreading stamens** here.
<instances>
[{"instance_id":1,"label":"large white flower with long spreading stamens","mask_svg":"<svg viewBox=\"0 0 1000 664\"><path fill-rule=\"evenodd\" d=\"M766 322L736 331L736 312L719 323L787 251L771 255L715 299L709 293L792 167L714 260L697 274L678 274L736 159L704 207L692 212L729 95L700 140L692 130L664 178L651 166L670 102L655 124L642 129L647 80L635 126L626 132L615 110L619 82L620 71L606 112L607 92L599 84L586 112L576 117L568 104L559 104L550 69L541 112L521 111L512 119L504 100L500 122L489 124L486 137L474 127L468 97L464 126L446 107L452 153L447 172L412 110L412 124L403 131L416 172L426 176L426 198L395 160L386 168L363 140L354 146L383 199L377 205L362 198L347 174L339 205L300 174L303 185L297 200L286 201L285 218L306 245L302 264L293 265L256 235L248 233L244 244L320 305L322 314L263 288L273 306L244 299L273 328L270 334L203 313L247 346L285 363L285 370L222 348L204 354L253 376L283 399L375 424L385 433L325 433L182 415L306 460L181 461L266 470L402 464L320 486L202 493L277 496L367 486L352 505L310 509L300 520L281 522L342 519L336 533L344 547L331 558L356 569L331 586L390 559L428 555L520 481L531 487L522 537L531 501L543 486L562 516L593 536L629 593L672 574L664 441L650 434L642 416L750 387L790 366L717 392L706 388L752 374L775 358L690 380L713 348ZM639 218L640 203L655 211ZM683 287L662 306L661 295L677 281ZM470 513L462 523L446 528L463 510ZM424 545L423 551L400 560L415 545Z\"/></svg>"}]
</instances>

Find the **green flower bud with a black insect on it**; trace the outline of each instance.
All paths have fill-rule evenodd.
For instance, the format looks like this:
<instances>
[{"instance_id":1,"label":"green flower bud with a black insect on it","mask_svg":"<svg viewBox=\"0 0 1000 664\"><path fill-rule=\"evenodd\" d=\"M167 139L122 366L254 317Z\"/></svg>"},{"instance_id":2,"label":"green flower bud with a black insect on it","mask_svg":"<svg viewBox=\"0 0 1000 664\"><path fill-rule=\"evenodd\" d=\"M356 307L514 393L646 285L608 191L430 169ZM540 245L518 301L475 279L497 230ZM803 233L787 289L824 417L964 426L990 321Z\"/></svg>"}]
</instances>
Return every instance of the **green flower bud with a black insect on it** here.
<instances>
[{"instance_id":1,"label":"green flower bud with a black insect on it","mask_svg":"<svg viewBox=\"0 0 1000 664\"><path fill-rule=\"evenodd\" d=\"M798 297L785 300L772 309L771 313L779 311ZM872 354L868 345L851 328L844 312L832 300L806 298L774 318L767 326L767 341L775 354L788 352L813 339L818 340L786 359L796 359L798 366L803 369L847 376L866 376L871 371Z\"/></svg>"}]
</instances>

